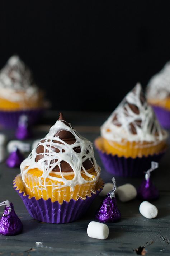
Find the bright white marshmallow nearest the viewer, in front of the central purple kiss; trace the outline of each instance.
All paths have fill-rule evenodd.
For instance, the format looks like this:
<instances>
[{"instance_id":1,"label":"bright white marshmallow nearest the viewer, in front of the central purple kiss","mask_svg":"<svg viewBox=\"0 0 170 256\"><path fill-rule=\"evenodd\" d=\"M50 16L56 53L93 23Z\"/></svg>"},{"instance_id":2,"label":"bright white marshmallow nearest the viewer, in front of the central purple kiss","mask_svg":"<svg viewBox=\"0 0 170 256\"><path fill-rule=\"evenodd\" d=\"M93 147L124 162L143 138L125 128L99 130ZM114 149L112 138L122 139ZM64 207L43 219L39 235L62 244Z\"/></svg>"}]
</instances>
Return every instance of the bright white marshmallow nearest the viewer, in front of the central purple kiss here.
<instances>
[{"instance_id":1,"label":"bright white marshmallow nearest the viewer, in front of the central purple kiss","mask_svg":"<svg viewBox=\"0 0 170 256\"><path fill-rule=\"evenodd\" d=\"M112 184L113 187L113 184ZM91 221L87 228L87 233L89 237L97 239L106 239L109 236L109 228L106 224Z\"/></svg>"}]
</instances>

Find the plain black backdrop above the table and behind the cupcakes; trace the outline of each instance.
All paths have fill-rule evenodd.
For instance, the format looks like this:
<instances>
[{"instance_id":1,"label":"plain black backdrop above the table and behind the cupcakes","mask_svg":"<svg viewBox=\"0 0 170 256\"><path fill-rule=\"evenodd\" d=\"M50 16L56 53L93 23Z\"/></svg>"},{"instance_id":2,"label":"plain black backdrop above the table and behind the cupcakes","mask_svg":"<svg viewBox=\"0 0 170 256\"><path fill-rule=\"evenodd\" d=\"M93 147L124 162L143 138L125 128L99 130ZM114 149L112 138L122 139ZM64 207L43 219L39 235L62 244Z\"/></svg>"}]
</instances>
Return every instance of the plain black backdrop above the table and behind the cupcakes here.
<instances>
[{"instance_id":1,"label":"plain black backdrop above the table and behind the cupcakes","mask_svg":"<svg viewBox=\"0 0 170 256\"><path fill-rule=\"evenodd\" d=\"M0 1L0 68L18 53L53 109L112 111L170 59L169 1Z\"/></svg>"}]
</instances>

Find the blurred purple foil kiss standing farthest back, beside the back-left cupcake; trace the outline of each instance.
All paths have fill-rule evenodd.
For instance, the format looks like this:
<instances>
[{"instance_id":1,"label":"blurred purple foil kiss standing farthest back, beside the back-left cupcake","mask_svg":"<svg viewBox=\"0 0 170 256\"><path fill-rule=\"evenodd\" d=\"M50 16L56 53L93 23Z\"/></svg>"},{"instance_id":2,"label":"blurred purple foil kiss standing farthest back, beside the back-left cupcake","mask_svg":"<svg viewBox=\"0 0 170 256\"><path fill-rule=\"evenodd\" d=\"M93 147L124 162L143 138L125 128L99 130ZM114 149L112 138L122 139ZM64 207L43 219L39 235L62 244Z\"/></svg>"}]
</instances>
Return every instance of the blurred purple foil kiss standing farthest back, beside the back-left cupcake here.
<instances>
[{"instance_id":1,"label":"blurred purple foil kiss standing farthest back, beside the back-left cupcake","mask_svg":"<svg viewBox=\"0 0 170 256\"><path fill-rule=\"evenodd\" d=\"M15 134L19 140L28 139L31 136L30 129L28 126L28 116L21 115L18 122L18 128Z\"/></svg>"}]
</instances>

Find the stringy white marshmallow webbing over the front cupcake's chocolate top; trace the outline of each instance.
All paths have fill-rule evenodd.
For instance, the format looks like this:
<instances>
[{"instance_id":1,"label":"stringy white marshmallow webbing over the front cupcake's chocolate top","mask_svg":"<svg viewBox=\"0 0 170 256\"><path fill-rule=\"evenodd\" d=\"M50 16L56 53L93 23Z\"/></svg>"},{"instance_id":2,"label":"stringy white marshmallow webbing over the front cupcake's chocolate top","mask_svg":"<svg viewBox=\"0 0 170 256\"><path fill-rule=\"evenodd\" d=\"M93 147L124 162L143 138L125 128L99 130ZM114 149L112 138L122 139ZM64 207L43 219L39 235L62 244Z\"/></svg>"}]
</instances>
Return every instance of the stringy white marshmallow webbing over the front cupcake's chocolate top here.
<instances>
[{"instance_id":1,"label":"stringy white marshmallow webbing over the front cupcake's chocolate top","mask_svg":"<svg viewBox=\"0 0 170 256\"><path fill-rule=\"evenodd\" d=\"M60 131L71 132L75 137L75 143L70 145L67 144L66 141L61 140L59 136L56 137L55 134ZM36 162L35 159L38 155L36 149L39 145L44 147L44 152L39 154L43 155L43 157ZM75 152L74 148L76 147L80 147L80 153ZM58 149L57 152L56 150L53 150L54 148ZM90 159L91 164L96 171L96 175L91 175L84 168L83 163L87 159ZM67 162L74 173L63 173L60 166L61 161ZM53 172L53 169L56 166L59 167L60 172ZM28 168L25 169L25 167ZM58 183L58 188L64 186L71 186L71 188L73 188L76 185L88 183L89 181L82 177L82 173L91 178L92 181L97 181L100 174L100 167L97 165L94 158L92 143L78 134L70 124L68 126L68 123L63 120L58 120L55 125L51 127L46 137L40 140L36 148L32 150L32 153L21 163L20 168L23 181L28 170L38 168L42 171L42 176L39 177L39 183L42 183L41 178L50 178L51 180L63 182L63 185ZM49 174L51 172L56 173L57 175L61 175L61 178L50 176ZM67 180L65 175L68 174L74 174L74 178L72 180Z\"/></svg>"}]
</instances>

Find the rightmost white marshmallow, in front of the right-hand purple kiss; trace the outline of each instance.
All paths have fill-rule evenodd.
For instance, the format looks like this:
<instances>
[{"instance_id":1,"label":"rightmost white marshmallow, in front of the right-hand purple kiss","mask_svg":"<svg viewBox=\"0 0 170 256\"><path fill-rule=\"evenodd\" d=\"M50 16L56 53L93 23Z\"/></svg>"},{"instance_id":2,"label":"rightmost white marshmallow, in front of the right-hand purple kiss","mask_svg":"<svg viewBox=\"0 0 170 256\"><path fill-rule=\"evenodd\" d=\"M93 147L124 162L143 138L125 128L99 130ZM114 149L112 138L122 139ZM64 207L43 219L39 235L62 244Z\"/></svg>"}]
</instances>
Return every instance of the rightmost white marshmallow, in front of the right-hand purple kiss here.
<instances>
[{"instance_id":1,"label":"rightmost white marshmallow, in front of the right-hand purple kiss","mask_svg":"<svg viewBox=\"0 0 170 256\"><path fill-rule=\"evenodd\" d=\"M147 219L153 219L158 214L158 209L156 206L149 203L148 201L144 201L140 204L139 211Z\"/></svg>"}]
</instances>

